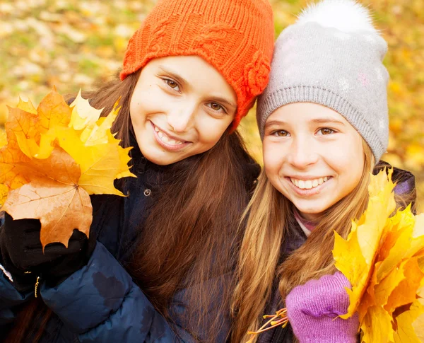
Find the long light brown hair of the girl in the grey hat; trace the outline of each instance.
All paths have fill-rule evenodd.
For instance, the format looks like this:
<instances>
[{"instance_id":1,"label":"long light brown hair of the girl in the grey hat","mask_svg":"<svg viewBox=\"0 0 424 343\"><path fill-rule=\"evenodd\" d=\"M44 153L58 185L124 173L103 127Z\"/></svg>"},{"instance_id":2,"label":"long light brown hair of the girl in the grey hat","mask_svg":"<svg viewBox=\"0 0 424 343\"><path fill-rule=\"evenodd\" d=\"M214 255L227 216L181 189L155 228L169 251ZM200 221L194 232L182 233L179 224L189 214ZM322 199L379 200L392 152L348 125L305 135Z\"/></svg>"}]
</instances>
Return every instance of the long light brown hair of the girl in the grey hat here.
<instances>
[{"instance_id":1,"label":"long light brown hair of the girl in the grey hat","mask_svg":"<svg viewBox=\"0 0 424 343\"><path fill-rule=\"evenodd\" d=\"M257 329L259 316L264 311L266 301L269 301L275 279L279 281L284 301L295 286L336 271L331 254L333 231L347 238L351 231L351 220L358 219L367 206L367 186L375 162L365 141L363 149L365 163L358 185L348 196L324 211L306 242L279 266L281 246L288 236L290 223L295 220L293 204L271 185L264 171L261 173L257 189L244 214L248 220L232 299L235 325L231 342L245 342L248 339L247 331ZM412 199L406 197L395 197L398 207L405 207Z\"/></svg>"}]
</instances>

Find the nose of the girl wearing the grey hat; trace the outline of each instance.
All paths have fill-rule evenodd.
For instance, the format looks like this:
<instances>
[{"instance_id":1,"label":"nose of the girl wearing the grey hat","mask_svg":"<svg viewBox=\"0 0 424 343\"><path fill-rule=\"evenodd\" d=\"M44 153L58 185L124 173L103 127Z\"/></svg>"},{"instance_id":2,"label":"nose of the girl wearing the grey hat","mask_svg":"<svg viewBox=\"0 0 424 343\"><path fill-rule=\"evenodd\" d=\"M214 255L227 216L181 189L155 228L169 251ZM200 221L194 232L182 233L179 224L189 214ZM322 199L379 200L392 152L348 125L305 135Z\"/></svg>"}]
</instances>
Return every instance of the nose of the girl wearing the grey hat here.
<instances>
[{"instance_id":1,"label":"nose of the girl wearing the grey hat","mask_svg":"<svg viewBox=\"0 0 424 343\"><path fill-rule=\"evenodd\" d=\"M319 154L314 141L306 137L293 139L289 149L288 162L295 168L305 169L318 161Z\"/></svg>"}]
</instances>

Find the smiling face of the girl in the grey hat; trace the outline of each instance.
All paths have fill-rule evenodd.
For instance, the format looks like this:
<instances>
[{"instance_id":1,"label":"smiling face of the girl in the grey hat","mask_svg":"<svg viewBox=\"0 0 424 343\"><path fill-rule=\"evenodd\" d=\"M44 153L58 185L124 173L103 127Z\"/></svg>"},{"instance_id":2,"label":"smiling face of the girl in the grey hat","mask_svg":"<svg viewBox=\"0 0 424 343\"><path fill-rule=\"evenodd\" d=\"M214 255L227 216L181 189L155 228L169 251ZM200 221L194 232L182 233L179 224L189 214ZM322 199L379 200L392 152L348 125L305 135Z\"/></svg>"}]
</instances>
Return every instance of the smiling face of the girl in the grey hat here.
<instances>
[{"instance_id":1,"label":"smiling face of the girl in the grey hat","mask_svg":"<svg viewBox=\"0 0 424 343\"><path fill-rule=\"evenodd\" d=\"M363 174L363 139L338 112L313 103L279 107L265 124L270 182L306 219L346 197Z\"/></svg>"}]
</instances>

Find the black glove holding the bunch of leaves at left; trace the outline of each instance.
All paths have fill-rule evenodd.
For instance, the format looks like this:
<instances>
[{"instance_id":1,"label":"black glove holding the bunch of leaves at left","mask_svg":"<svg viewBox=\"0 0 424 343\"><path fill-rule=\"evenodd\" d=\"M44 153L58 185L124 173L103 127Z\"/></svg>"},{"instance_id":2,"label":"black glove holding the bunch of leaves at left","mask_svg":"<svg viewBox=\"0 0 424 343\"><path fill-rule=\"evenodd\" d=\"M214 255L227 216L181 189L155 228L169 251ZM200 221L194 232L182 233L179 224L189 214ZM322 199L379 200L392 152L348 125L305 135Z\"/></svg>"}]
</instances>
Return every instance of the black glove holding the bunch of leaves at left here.
<instances>
[{"instance_id":1,"label":"black glove holding the bunch of leaves at left","mask_svg":"<svg viewBox=\"0 0 424 343\"><path fill-rule=\"evenodd\" d=\"M13 220L5 214L0 228L0 264L13 277L18 291L28 291L35 286L37 277L49 286L59 284L70 274L86 265L95 248L95 235L90 239L74 230L68 248L61 243L50 243L42 252L41 223L38 219Z\"/></svg>"}]
</instances>

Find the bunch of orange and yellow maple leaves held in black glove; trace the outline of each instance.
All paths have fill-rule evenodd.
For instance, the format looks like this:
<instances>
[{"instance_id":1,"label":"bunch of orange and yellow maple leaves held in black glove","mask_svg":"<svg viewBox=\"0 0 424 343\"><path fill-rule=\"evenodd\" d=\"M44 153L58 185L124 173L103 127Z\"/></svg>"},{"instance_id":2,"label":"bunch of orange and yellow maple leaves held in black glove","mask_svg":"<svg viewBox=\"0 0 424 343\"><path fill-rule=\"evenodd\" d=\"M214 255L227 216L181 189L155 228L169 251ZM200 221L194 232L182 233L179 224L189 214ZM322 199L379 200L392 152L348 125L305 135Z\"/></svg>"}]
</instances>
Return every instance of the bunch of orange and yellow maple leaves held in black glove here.
<instances>
[{"instance_id":1,"label":"bunch of orange and yellow maple leaves held in black glove","mask_svg":"<svg viewBox=\"0 0 424 343\"><path fill-rule=\"evenodd\" d=\"M114 179L134 176L129 149L110 132L119 108L107 117L81 97L67 105L55 89L35 109L9 107L6 146L0 149L0 205L13 219L40 219L42 246L68 246L73 229L90 232L89 194L124 195Z\"/></svg>"}]
</instances>

